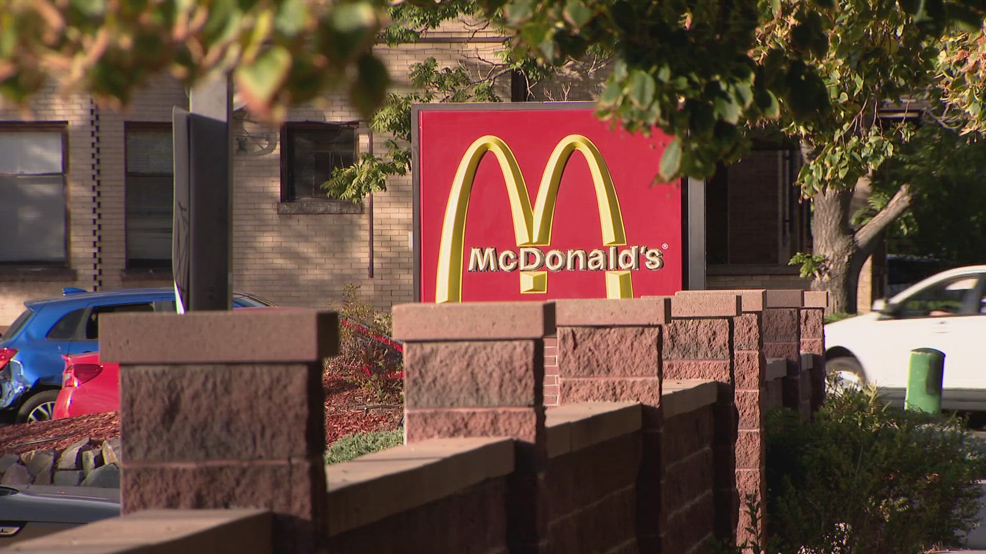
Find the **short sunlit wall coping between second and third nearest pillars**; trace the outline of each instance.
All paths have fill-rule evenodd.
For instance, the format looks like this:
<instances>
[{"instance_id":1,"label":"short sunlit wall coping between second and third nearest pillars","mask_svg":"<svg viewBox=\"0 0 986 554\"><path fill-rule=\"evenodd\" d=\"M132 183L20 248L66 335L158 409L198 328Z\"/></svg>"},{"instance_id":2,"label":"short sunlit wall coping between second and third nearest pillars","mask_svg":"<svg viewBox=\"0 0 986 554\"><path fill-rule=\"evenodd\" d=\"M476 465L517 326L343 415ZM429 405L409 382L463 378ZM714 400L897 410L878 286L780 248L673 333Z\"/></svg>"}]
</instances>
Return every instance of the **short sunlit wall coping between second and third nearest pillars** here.
<instances>
[{"instance_id":1,"label":"short sunlit wall coping between second and third nearest pillars","mask_svg":"<svg viewBox=\"0 0 986 554\"><path fill-rule=\"evenodd\" d=\"M545 411L548 457L582 450L641 428L639 402L578 402Z\"/></svg>"}]
</instances>

